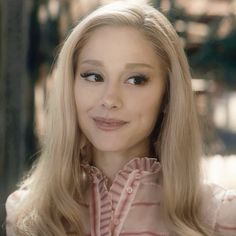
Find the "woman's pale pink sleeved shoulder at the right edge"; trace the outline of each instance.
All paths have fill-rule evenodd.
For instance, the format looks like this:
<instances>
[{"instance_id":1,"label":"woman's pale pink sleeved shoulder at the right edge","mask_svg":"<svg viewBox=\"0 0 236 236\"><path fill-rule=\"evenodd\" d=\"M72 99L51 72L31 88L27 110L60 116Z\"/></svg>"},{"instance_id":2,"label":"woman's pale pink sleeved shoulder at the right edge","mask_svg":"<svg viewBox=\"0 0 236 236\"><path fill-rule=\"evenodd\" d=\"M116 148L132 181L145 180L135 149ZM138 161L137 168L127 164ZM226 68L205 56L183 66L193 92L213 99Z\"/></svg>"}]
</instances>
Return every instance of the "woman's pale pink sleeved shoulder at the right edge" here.
<instances>
[{"instance_id":1,"label":"woman's pale pink sleeved shoulder at the right edge","mask_svg":"<svg viewBox=\"0 0 236 236\"><path fill-rule=\"evenodd\" d=\"M217 185L209 185L206 202L213 207L213 228L219 235L236 235L236 189L224 189ZM210 201L210 202L209 202Z\"/></svg>"}]
</instances>

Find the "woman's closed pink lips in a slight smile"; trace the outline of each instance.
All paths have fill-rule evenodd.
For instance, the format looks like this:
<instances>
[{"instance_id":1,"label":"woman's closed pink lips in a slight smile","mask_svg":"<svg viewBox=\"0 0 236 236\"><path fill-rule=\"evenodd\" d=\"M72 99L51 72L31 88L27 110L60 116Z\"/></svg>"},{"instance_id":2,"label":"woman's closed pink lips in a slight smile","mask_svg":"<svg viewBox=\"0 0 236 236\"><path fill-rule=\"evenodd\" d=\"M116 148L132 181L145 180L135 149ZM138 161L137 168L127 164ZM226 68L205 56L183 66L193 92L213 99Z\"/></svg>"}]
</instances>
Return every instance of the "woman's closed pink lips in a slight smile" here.
<instances>
[{"instance_id":1,"label":"woman's closed pink lips in a slight smile","mask_svg":"<svg viewBox=\"0 0 236 236\"><path fill-rule=\"evenodd\" d=\"M97 128L99 128L103 131L117 130L128 123L123 120L107 119L107 118L103 118L103 117L94 117L93 120L94 120Z\"/></svg>"}]
</instances>

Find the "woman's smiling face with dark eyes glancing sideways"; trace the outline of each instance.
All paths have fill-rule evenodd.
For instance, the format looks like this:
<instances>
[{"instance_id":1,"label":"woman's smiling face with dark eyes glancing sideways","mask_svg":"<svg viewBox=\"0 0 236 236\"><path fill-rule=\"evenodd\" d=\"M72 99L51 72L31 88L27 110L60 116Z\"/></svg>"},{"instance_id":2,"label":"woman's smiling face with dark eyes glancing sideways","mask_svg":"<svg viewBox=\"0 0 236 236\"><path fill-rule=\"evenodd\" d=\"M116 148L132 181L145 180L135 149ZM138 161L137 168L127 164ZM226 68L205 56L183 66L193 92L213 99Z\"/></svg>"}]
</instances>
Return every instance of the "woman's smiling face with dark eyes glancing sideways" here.
<instances>
[{"instance_id":1,"label":"woman's smiling face with dark eyes glancing sideways","mask_svg":"<svg viewBox=\"0 0 236 236\"><path fill-rule=\"evenodd\" d=\"M134 28L102 27L80 51L77 66L78 122L94 148L147 153L140 149L149 146L165 90L151 43Z\"/></svg>"}]
</instances>

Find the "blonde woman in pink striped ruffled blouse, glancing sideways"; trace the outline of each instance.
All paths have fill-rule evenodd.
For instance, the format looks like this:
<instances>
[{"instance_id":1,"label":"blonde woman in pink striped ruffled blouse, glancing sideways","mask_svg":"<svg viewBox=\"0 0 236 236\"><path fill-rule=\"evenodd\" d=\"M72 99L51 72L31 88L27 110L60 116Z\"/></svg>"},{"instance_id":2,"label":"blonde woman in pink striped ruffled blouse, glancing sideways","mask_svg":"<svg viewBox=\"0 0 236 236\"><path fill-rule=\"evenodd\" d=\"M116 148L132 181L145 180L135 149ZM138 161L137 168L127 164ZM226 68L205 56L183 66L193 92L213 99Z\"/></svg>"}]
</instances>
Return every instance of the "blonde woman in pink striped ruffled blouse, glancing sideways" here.
<instances>
[{"instance_id":1,"label":"blonde woman in pink striped ruffled blouse, glancing sideways","mask_svg":"<svg viewBox=\"0 0 236 236\"><path fill-rule=\"evenodd\" d=\"M201 179L189 68L159 11L94 11L56 71L42 154L6 203L8 235L236 235L236 193Z\"/></svg>"}]
</instances>

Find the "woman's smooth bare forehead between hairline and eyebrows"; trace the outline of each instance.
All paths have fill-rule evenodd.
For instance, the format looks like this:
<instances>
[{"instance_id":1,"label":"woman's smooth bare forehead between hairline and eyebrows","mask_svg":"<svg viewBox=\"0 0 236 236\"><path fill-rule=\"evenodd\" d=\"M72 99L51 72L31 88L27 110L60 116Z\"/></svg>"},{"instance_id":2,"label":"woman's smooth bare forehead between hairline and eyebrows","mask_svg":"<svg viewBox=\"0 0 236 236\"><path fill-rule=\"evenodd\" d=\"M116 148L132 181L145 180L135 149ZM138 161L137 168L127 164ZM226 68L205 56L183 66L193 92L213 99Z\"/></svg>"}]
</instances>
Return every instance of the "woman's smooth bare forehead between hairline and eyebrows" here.
<instances>
[{"instance_id":1,"label":"woman's smooth bare forehead between hairline and eyebrows","mask_svg":"<svg viewBox=\"0 0 236 236\"><path fill-rule=\"evenodd\" d=\"M127 26L104 26L93 31L80 51L79 59L157 63L159 57L152 43L138 29Z\"/></svg>"}]
</instances>

